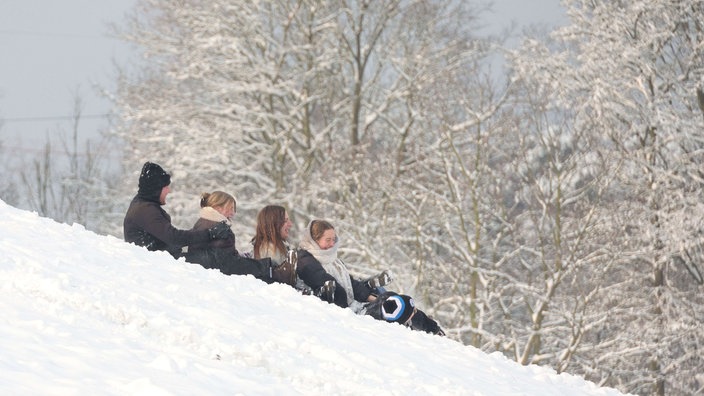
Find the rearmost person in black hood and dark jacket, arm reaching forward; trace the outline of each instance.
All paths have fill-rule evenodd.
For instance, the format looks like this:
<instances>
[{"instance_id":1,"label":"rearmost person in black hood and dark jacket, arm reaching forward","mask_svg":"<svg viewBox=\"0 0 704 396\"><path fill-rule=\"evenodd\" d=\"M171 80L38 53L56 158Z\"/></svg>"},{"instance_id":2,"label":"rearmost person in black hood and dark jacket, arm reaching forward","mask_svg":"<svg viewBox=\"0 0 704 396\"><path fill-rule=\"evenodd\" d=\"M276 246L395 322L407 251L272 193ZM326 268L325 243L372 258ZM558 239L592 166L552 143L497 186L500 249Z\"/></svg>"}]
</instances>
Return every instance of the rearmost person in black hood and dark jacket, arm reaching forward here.
<instances>
[{"instance_id":1,"label":"rearmost person in black hood and dark jacket, arm reaching forward","mask_svg":"<svg viewBox=\"0 0 704 396\"><path fill-rule=\"evenodd\" d=\"M153 162L146 162L139 175L137 195L123 221L125 242L144 246L148 250L163 250L175 258L181 248L215 239L227 239L232 230L225 223L217 223L204 230L179 230L171 225L171 216L161 207L171 192L171 175Z\"/></svg>"}]
</instances>

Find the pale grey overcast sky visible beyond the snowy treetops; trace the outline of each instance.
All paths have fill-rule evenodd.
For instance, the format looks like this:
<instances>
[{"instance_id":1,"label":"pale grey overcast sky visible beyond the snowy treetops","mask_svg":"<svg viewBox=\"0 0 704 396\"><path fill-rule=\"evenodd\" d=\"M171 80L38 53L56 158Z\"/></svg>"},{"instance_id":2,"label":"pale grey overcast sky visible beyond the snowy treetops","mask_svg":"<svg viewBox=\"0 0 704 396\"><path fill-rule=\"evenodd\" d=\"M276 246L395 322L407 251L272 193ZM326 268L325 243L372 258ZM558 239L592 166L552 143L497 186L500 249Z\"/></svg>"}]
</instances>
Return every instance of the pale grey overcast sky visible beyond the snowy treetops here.
<instances>
[{"instance_id":1,"label":"pale grey overcast sky visible beyond the snowy treetops","mask_svg":"<svg viewBox=\"0 0 704 396\"><path fill-rule=\"evenodd\" d=\"M105 129L108 101L95 86L114 88L114 63L128 64L130 47L108 36L137 0L0 0L0 142L36 150L47 134L71 131L78 94L81 135ZM559 0L495 0L492 31L519 25L564 23ZM32 142L34 139L34 142ZM39 140L37 140L39 139Z\"/></svg>"}]
</instances>

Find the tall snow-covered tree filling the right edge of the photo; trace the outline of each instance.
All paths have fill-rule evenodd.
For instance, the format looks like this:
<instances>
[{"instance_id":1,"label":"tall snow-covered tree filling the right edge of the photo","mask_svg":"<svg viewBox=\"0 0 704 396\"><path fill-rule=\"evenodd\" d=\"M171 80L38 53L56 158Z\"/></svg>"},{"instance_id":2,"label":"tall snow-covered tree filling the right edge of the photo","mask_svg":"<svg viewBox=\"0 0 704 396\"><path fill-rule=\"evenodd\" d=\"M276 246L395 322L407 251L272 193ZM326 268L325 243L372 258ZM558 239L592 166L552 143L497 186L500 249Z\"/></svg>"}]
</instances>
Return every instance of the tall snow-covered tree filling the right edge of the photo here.
<instances>
[{"instance_id":1,"label":"tall snow-covered tree filling the right edge of the photo","mask_svg":"<svg viewBox=\"0 0 704 396\"><path fill-rule=\"evenodd\" d=\"M576 371L638 394L692 394L702 366L701 153L704 83L699 1L566 1L557 53L523 49L519 73L552 87L573 128L611 162L601 222L613 238L599 263L600 315ZM616 265L609 265L614 262Z\"/></svg>"}]
</instances>

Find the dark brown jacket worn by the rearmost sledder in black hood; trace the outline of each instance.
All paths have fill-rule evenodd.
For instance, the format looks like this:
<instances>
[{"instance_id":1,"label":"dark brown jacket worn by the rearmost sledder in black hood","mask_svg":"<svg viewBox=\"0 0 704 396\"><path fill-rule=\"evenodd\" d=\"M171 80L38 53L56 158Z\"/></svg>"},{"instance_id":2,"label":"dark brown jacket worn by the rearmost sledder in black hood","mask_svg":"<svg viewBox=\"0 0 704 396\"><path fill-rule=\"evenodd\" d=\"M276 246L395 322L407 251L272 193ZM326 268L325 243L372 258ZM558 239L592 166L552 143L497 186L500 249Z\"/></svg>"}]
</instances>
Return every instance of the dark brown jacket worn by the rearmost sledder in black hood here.
<instances>
[{"instance_id":1,"label":"dark brown jacket worn by the rearmost sledder in black hood","mask_svg":"<svg viewBox=\"0 0 704 396\"><path fill-rule=\"evenodd\" d=\"M179 230L171 225L171 216L162 209L159 196L132 199L123 222L126 242L144 246L149 250L165 250L174 257L181 255L181 248L210 240L208 230Z\"/></svg>"}]
</instances>

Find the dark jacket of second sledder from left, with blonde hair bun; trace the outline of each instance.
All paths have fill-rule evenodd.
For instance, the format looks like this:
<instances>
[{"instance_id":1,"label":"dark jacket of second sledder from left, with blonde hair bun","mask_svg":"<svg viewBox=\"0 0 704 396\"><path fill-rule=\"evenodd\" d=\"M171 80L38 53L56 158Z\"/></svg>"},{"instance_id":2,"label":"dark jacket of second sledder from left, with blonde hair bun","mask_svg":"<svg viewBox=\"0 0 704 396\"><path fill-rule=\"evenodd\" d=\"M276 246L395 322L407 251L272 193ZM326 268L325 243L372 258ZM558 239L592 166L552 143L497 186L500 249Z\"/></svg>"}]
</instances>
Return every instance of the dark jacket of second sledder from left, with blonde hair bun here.
<instances>
[{"instance_id":1,"label":"dark jacket of second sledder from left, with blonde hair bun","mask_svg":"<svg viewBox=\"0 0 704 396\"><path fill-rule=\"evenodd\" d=\"M193 231L207 230L219 219L201 217L193 225ZM272 283L271 259L255 260L240 256L235 249L235 236L229 239L214 240L190 245L186 261L200 264L205 268L215 268L225 275L252 275L267 283Z\"/></svg>"}]
</instances>

